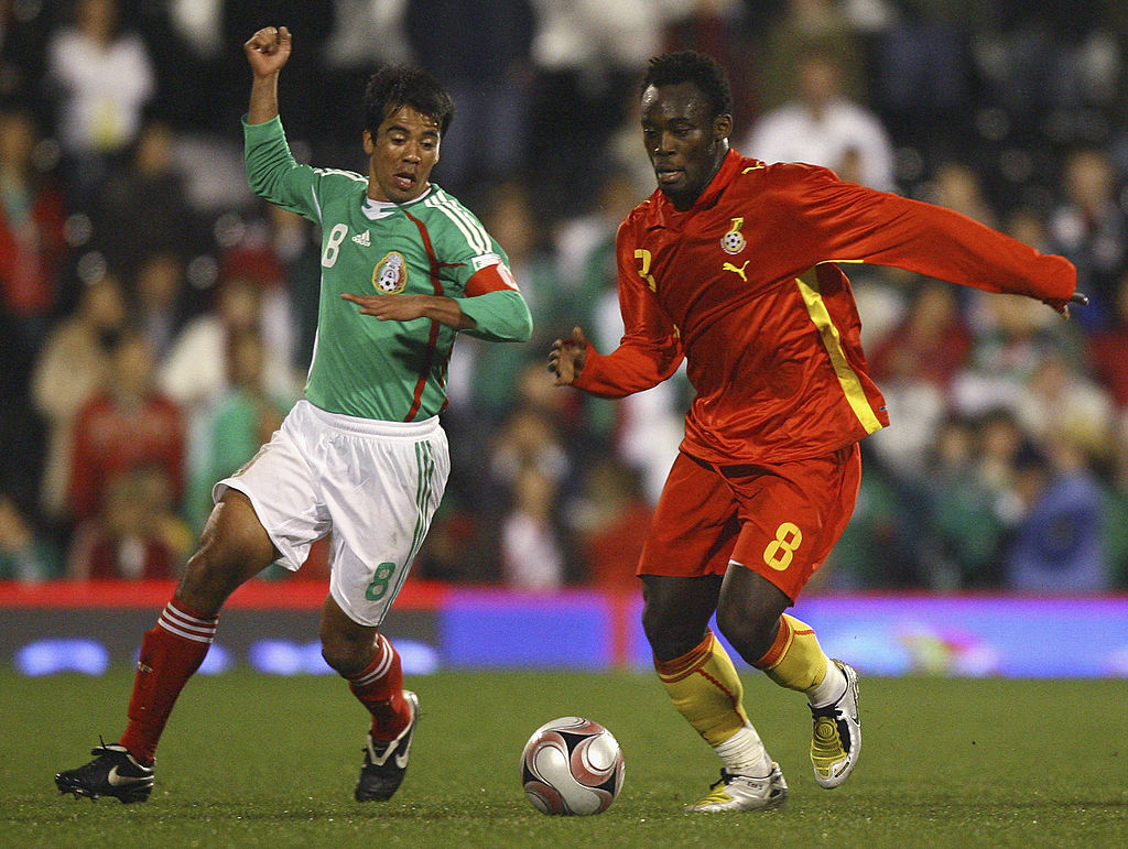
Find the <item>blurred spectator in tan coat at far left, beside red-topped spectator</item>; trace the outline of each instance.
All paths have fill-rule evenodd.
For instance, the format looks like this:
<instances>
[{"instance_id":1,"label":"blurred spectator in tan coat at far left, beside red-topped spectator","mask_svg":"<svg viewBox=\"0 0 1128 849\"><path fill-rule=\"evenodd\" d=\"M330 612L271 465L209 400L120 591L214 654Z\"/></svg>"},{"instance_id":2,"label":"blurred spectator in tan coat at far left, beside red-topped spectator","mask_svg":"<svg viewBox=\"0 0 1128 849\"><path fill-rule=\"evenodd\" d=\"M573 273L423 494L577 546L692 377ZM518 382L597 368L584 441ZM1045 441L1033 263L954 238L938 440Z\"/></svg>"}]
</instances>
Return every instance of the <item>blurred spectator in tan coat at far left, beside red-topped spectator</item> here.
<instances>
[{"instance_id":1,"label":"blurred spectator in tan coat at far left, beside red-topped spectator","mask_svg":"<svg viewBox=\"0 0 1128 849\"><path fill-rule=\"evenodd\" d=\"M111 352L126 325L125 293L116 277L83 286L74 311L52 329L32 372L32 398L46 424L39 497L45 515L65 524L72 431L79 410L105 387Z\"/></svg>"}]
</instances>

